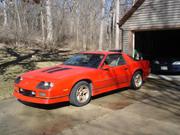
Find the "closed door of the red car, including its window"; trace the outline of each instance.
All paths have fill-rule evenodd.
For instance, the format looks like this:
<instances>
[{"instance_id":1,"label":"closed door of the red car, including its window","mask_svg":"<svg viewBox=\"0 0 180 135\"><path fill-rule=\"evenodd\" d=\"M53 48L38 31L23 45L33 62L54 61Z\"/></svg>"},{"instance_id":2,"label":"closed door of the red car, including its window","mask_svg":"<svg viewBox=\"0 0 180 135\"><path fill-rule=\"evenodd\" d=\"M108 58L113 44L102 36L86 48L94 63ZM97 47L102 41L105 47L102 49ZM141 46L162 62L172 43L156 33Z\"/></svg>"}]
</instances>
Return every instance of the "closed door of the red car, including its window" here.
<instances>
[{"instance_id":1,"label":"closed door of the red car, including its window","mask_svg":"<svg viewBox=\"0 0 180 135\"><path fill-rule=\"evenodd\" d=\"M107 70L99 69L97 89L119 88L128 82L128 66L121 54L111 54L106 57L103 65L108 65Z\"/></svg>"}]
</instances>

